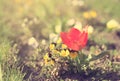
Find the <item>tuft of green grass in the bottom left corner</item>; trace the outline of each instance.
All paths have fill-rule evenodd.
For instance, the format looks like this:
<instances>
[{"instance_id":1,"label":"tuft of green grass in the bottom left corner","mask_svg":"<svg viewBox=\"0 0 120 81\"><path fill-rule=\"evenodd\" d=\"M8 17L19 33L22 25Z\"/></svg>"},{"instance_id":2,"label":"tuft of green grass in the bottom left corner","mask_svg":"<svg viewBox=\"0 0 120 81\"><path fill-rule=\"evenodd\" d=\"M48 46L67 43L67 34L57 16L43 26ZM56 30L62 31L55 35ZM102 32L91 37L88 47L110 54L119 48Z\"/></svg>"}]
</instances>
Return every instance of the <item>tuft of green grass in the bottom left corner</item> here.
<instances>
[{"instance_id":1,"label":"tuft of green grass in the bottom left corner","mask_svg":"<svg viewBox=\"0 0 120 81\"><path fill-rule=\"evenodd\" d=\"M22 81L24 75L17 67L16 47L4 40L0 48L0 81Z\"/></svg>"}]
</instances>

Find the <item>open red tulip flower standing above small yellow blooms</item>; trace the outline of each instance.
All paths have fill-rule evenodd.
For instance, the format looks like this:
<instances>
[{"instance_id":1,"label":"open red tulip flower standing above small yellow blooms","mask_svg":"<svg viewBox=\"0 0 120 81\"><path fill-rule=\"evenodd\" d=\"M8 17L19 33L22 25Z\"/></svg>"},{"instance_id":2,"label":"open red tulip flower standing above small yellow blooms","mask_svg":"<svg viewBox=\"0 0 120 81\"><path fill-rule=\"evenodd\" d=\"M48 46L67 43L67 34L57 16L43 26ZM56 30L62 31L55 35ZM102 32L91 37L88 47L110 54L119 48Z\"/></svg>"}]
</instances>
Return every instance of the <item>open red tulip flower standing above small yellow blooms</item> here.
<instances>
[{"instance_id":1,"label":"open red tulip flower standing above small yellow blooms","mask_svg":"<svg viewBox=\"0 0 120 81\"><path fill-rule=\"evenodd\" d=\"M79 51L86 46L88 40L87 27L83 31L71 28L69 32L61 32L60 37L70 50Z\"/></svg>"}]
</instances>

